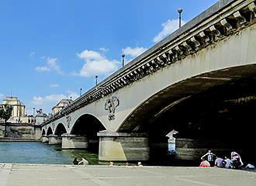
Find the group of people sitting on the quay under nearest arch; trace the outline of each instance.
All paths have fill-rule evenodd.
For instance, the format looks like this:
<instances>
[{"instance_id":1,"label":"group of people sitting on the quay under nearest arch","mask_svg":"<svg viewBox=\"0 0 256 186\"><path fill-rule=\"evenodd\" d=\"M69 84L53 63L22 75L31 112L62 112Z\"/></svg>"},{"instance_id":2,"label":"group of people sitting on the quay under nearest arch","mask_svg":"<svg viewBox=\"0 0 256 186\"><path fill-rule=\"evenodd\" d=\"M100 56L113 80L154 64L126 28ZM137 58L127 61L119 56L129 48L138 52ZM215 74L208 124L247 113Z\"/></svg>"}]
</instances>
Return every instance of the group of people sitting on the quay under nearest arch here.
<instances>
[{"instance_id":1,"label":"group of people sitting on the quay under nearest arch","mask_svg":"<svg viewBox=\"0 0 256 186\"><path fill-rule=\"evenodd\" d=\"M231 152L230 158L228 157L217 157L216 154L212 153L211 150L208 150L208 153L203 155L201 157L201 164L199 167L225 167L225 168L234 168L234 169L239 169L242 167L244 164L241 160L241 157L238 153L236 152Z\"/></svg>"}]
</instances>

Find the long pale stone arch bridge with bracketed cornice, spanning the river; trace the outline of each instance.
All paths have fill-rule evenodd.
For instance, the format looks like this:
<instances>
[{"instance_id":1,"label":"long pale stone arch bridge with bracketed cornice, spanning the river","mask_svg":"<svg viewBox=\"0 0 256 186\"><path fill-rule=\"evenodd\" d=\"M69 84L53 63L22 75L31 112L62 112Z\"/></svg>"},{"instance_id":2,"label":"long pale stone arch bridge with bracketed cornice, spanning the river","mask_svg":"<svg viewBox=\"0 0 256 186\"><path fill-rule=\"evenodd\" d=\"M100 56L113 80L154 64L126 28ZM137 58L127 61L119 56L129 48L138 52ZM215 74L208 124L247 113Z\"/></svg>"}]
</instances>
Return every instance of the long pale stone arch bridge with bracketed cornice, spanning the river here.
<instances>
[{"instance_id":1,"label":"long pale stone arch bridge with bracketed cornice, spanning the river","mask_svg":"<svg viewBox=\"0 0 256 186\"><path fill-rule=\"evenodd\" d=\"M99 160L148 160L166 152L175 129L180 159L236 148L234 122L215 119L256 99L255 18L253 0L217 2L43 122L43 142L99 146Z\"/></svg>"}]
</instances>

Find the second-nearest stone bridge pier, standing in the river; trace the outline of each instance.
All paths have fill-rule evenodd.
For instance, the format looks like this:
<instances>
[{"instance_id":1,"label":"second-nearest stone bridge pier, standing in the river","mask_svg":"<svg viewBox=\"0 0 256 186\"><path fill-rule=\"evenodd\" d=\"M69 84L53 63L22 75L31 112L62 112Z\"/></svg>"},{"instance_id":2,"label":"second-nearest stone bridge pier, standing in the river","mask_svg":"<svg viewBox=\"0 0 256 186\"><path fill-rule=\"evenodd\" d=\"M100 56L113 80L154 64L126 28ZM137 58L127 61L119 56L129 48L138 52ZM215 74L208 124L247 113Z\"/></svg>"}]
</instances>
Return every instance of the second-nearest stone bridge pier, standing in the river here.
<instances>
[{"instance_id":1,"label":"second-nearest stone bridge pier, standing in the river","mask_svg":"<svg viewBox=\"0 0 256 186\"><path fill-rule=\"evenodd\" d=\"M62 149L87 149L88 138L87 136L74 135L74 134L62 134Z\"/></svg>"}]
</instances>

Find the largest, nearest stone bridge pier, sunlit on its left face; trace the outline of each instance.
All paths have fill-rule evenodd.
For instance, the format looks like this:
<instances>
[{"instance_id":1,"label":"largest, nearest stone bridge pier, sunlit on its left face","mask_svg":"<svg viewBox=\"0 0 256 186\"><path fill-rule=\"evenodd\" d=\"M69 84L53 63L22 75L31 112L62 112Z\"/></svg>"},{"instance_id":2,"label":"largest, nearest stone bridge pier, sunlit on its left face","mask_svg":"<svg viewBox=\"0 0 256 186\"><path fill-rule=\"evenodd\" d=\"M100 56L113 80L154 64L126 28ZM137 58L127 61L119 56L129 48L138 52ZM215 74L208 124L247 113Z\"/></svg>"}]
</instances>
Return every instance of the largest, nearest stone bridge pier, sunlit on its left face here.
<instances>
[{"instance_id":1,"label":"largest, nearest stone bridge pier, sunlit on its left face","mask_svg":"<svg viewBox=\"0 0 256 186\"><path fill-rule=\"evenodd\" d=\"M100 131L99 160L133 161L148 160L148 137L145 134Z\"/></svg>"}]
</instances>

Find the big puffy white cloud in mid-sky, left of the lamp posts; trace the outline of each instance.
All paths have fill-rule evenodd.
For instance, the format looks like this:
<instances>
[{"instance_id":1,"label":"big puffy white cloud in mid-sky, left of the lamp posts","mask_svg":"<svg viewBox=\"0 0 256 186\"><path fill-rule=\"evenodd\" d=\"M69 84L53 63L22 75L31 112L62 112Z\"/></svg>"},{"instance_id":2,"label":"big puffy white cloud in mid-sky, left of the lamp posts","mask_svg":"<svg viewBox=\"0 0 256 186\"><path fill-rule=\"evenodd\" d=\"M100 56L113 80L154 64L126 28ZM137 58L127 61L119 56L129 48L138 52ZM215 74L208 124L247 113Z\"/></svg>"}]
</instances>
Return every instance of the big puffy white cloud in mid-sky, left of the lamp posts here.
<instances>
[{"instance_id":1,"label":"big puffy white cloud in mid-sky, left of the lamp posts","mask_svg":"<svg viewBox=\"0 0 256 186\"><path fill-rule=\"evenodd\" d=\"M85 60L84 66L79 73L73 72L72 74L79 74L84 77L92 77L94 75L107 75L117 70L117 60L109 60L102 56L101 53L93 50L84 50L77 53L78 57Z\"/></svg>"}]
</instances>

